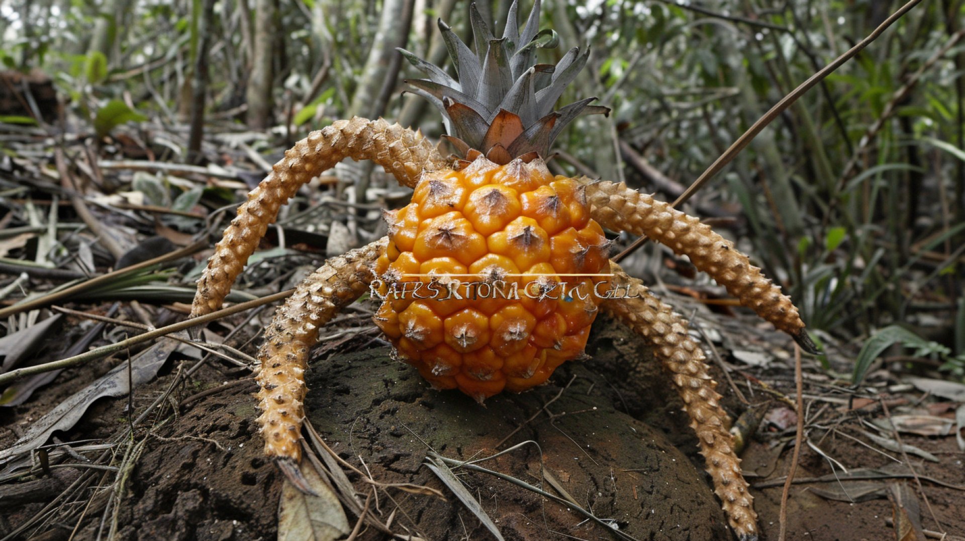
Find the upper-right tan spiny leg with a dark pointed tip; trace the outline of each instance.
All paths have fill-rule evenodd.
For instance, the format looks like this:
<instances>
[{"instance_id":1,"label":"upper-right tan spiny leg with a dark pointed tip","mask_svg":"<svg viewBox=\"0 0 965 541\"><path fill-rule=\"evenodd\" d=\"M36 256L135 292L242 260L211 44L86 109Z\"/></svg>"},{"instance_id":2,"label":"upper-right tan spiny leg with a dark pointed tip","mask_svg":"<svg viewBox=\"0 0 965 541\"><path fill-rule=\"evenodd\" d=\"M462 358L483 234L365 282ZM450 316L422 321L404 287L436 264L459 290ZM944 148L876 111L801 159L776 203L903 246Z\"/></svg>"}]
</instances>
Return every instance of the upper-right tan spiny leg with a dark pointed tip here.
<instances>
[{"instance_id":1,"label":"upper-right tan spiny leg with a dark pointed tip","mask_svg":"<svg viewBox=\"0 0 965 541\"><path fill-rule=\"evenodd\" d=\"M816 354L797 307L781 288L751 265L733 242L715 233L700 218L681 213L663 201L626 185L584 179L593 219L614 231L646 235L684 254L701 271L740 303L753 309L774 327L790 334L802 349Z\"/></svg>"}]
</instances>

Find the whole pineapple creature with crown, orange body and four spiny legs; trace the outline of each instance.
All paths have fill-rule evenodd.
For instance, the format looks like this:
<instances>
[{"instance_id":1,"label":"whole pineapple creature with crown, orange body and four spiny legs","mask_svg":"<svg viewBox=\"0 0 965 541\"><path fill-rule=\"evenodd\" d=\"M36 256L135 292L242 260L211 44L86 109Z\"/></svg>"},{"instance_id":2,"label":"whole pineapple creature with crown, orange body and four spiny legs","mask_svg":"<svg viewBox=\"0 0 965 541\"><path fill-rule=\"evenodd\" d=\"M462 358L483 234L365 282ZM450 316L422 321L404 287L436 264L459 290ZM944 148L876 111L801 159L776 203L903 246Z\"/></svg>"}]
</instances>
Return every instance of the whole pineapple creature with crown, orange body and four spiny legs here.
<instances>
[{"instance_id":1,"label":"whole pineapple creature with crown, orange body and four spiny legs","mask_svg":"<svg viewBox=\"0 0 965 541\"><path fill-rule=\"evenodd\" d=\"M427 75L406 82L438 107L457 157L442 157L420 132L381 119L337 121L311 133L238 208L199 280L192 315L221 306L299 186L345 157L372 159L414 188L412 202L384 214L387 238L333 258L302 282L265 329L259 353L265 453L296 486L304 488L296 465L309 351L318 328L367 291L382 299L375 324L400 359L434 386L480 402L542 384L560 364L582 357L602 308L654 346L731 527L754 539L753 498L703 352L686 321L609 262L603 228L648 235L690 256L805 350L813 352L813 343L780 288L697 218L625 185L550 174L544 159L560 131L580 115L608 110L592 98L556 108L588 53L574 48L556 66L536 64L536 49L555 46L556 36L538 31L538 0L521 33L516 11L513 2L496 39L473 7L475 52L440 21L456 79L401 51ZM610 298L611 288L631 295Z\"/></svg>"}]
</instances>

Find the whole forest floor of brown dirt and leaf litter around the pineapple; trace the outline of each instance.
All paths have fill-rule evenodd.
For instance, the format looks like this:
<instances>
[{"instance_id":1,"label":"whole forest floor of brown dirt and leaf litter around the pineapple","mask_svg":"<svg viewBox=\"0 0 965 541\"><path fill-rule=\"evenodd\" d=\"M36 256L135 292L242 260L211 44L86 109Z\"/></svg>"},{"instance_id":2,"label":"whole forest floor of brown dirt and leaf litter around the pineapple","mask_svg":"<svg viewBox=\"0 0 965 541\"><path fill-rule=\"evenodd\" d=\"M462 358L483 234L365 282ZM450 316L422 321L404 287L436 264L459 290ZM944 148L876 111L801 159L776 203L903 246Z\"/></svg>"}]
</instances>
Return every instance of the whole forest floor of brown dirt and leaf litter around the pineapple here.
<instances>
[{"instance_id":1,"label":"whole forest floor of brown dirt and leaf litter around the pineapple","mask_svg":"<svg viewBox=\"0 0 965 541\"><path fill-rule=\"evenodd\" d=\"M254 154L236 150L246 148L245 137L234 138L239 146L224 161ZM121 254L108 253L89 230L124 246L126 263L149 260L206 238L202 229L218 230L217 219L204 221L205 207L233 200L233 190L260 178L234 168L158 169L144 159L150 153L135 152L134 140L119 139L114 149L129 161L92 168L93 154L76 148L69 160L47 162L36 150L49 143L42 133L24 129L11 139L21 144L19 157L0 158L8 208L0 308L103 274ZM78 198L74 181L85 176L99 185L86 185L87 198ZM375 220L314 189L321 212L292 213L272 230L238 288L247 294L235 302L289 288L353 236L380 235ZM400 198L383 189L375 199ZM84 219L82 209L93 217ZM334 217L348 225L302 226ZM124 274L48 303L57 309L7 317L0 376L182 320L208 245L165 270ZM965 538L965 385L940 380L927 363L898 363L912 366L902 370L885 363L850 388L856 345L819 334L826 364L802 361L805 428L782 504L796 440L793 343L748 314L708 309L700 299L714 286L663 271L670 276L661 281L683 285L654 290L699 324L695 336L713 347L724 406L743 415L742 466L763 538L778 538L783 516L787 539ZM324 329L307 376L306 446L315 457L308 462L334 487L348 529L367 517L355 538L491 538L484 517L506 539L731 538L673 384L620 324L601 318L589 360L483 407L432 390L393 360L371 323L373 309L372 300L359 302ZM277 537L283 476L262 455L252 377L271 312L208 325L201 337L214 354L165 338L0 386L0 538ZM500 452L476 463L484 470L440 458ZM448 471L440 464L457 473L458 493L437 473ZM341 532L332 538L347 534L344 525L334 528Z\"/></svg>"}]
</instances>

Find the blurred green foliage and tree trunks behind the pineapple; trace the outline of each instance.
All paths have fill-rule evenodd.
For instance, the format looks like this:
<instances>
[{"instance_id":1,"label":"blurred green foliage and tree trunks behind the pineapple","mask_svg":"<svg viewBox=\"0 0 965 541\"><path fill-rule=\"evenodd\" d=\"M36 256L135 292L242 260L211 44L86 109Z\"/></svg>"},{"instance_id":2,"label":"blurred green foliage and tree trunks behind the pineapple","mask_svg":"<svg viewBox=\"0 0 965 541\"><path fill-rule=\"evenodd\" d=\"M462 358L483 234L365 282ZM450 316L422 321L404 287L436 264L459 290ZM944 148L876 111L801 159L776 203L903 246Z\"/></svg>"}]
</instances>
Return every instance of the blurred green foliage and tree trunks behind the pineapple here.
<instances>
[{"instance_id":1,"label":"blurred green foliage and tree trunks behind the pineapple","mask_svg":"<svg viewBox=\"0 0 965 541\"><path fill-rule=\"evenodd\" d=\"M900 6L550 0L543 22L564 46L543 51L545 61L592 46L590 69L567 98L597 96L613 108L609 119L565 132L557 166L676 198L773 103ZM480 7L500 21L508 3ZM191 125L196 154L171 145L172 156L158 158L211 161L217 154L201 143L203 126L269 133L258 147L265 154L353 114L438 135L435 112L402 93L401 79L416 73L394 49L448 62L436 19L468 38L468 11L465 0L8 0L0 3L0 60L53 78L68 99L59 122L69 130L102 139L127 129L150 139ZM944 347L933 348L936 358L959 377L963 21L962 0L922 2L787 109L686 206L737 216L733 236L786 287L810 327L846 339L900 323ZM354 191L364 202L366 191Z\"/></svg>"}]
</instances>

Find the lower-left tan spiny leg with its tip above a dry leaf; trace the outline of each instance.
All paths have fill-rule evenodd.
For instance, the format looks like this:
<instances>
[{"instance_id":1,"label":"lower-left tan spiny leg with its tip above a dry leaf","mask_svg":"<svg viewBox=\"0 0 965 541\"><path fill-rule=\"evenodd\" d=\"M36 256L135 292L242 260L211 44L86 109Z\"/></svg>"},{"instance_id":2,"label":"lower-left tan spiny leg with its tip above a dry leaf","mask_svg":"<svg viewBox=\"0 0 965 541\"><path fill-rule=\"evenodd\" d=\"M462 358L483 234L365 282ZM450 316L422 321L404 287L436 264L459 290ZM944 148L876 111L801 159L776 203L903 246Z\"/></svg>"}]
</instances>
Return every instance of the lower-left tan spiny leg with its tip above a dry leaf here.
<instances>
[{"instance_id":1,"label":"lower-left tan spiny leg with its tip above a dry leaf","mask_svg":"<svg viewBox=\"0 0 965 541\"><path fill-rule=\"evenodd\" d=\"M366 293L372 283L372 267L387 244L383 238L328 260L302 281L264 330L258 353L262 366L256 378L261 386L258 423L264 453L276 459L286 473L291 471L286 466L301 460L303 376L309 351L318 340L318 328Z\"/></svg>"}]
</instances>

